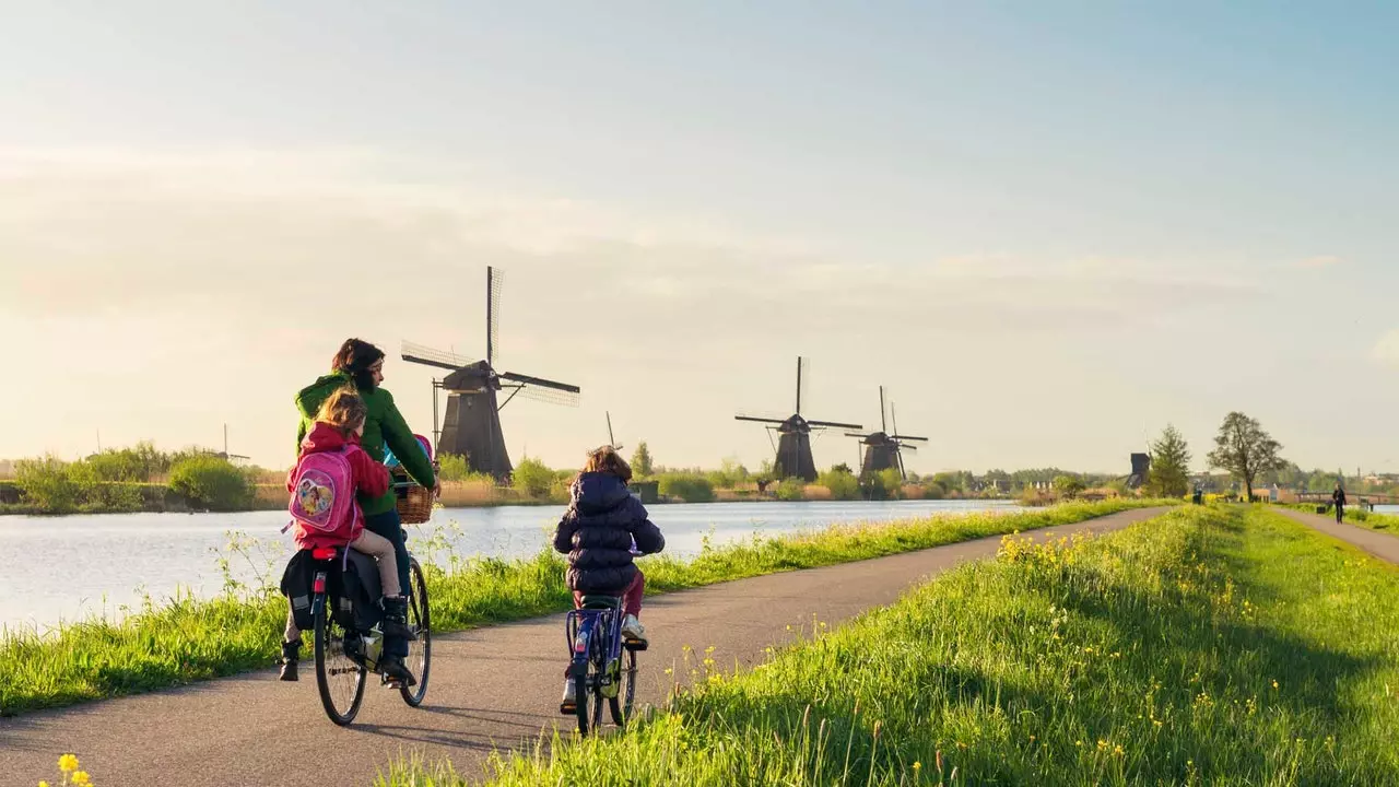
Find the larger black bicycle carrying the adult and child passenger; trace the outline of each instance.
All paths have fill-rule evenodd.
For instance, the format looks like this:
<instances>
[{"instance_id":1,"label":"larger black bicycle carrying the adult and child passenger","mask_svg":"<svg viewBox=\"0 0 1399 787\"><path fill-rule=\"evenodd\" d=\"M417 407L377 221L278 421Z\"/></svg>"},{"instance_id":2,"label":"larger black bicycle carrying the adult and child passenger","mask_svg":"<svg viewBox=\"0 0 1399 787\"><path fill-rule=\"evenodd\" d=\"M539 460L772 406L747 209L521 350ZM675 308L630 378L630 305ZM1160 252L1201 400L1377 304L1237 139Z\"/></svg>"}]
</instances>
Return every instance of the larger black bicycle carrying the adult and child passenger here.
<instances>
[{"instance_id":1,"label":"larger black bicycle carrying the adult and child passenger","mask_svg":"<svg viewBox=\"0 0 1399 787\"><path fill-rule=\"evenodd\" d=\"M348 552L348 555L347 555ZM316 689L320 704L330 721L346 727L360 713L364 702L365 678L379 672L379 658L383 653L383 633L379 623L358 627L355 623L355 601L346 598L341 581L341 566L346 560L364 560L358 566L362 581L374 585L369 592L378 598L378 571L372 569L374 559L348 548L313 549L312 559L318 562L312 584L312 618L316 653ZM416 557L409 557L409 627L417 640L409 641L409 657L404 660L409 671L417 678L411 688L383 676L383 685L397 688L403 702L411 707L422 704L428 692L428 676L432 667L432 616L428 606L428 588L422 577L422 566Z\"/></svg>"}]
</instances>

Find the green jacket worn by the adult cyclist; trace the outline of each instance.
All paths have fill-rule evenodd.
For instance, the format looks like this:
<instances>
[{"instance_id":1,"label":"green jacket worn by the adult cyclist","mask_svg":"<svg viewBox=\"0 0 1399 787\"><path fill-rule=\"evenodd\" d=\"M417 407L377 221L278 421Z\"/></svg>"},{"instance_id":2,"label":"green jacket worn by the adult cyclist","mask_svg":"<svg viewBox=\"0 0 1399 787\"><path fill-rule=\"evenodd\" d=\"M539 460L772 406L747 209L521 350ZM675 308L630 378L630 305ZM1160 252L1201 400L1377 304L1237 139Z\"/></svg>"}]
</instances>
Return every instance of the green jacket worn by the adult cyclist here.
<instances>
[{"instance_id":1,"label":"green jacket worn by the adult cyclist","mask_svg":"<svg viewBox=\"0 0 1399 787\"><path fill-rule=\"evenodd\" d=\"M311 431L311 423L315 420L316 412L320 410L322 402L337 388L346 385L354 385L350 375L334 372L322 377L297 394L297 409L301 410L301 424L297 427L298 452L301 451L301 441ZM383 388L375 388L372 391L360 389L360 396L364 398L364 403L369 409L369 416L364 422L364 437L360 438L360 447L369 454L371 459L382 462L383 447L388 445L393 451L393 455L403 462L403 468L413 480L429 489L435 486L432 464L422 454L422 447L413 437L413 430L409 429L407 422L399 413L399 408L395 406L393 395ZM379 497L360 497L360 507L367 517L382 514L393 508L395 504L392 489Z\"/></svg>"}]
</instances>

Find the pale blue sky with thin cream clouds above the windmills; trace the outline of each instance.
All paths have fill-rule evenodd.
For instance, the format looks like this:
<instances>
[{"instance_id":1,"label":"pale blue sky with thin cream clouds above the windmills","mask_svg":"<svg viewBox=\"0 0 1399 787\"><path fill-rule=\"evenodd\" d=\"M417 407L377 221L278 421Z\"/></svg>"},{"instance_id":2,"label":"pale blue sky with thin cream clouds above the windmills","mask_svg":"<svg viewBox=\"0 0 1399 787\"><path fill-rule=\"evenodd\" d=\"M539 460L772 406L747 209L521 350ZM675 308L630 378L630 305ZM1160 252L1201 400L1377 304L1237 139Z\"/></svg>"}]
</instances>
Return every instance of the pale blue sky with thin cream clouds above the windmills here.
<instances>
[{"instance_id":1,"label":"pale blue sky with thin cream clouds above the windmills","mask_svg":"<svg viewBox=\"0 0 1399 787\"><path fill-rule=\"evenodd\" d=\"M1399 6L0 0L0 457L294 458L347 336L581 385L513 458L1399 472ZM838 433L821 466L853 462Z\"/></svg>"}]
</instances>

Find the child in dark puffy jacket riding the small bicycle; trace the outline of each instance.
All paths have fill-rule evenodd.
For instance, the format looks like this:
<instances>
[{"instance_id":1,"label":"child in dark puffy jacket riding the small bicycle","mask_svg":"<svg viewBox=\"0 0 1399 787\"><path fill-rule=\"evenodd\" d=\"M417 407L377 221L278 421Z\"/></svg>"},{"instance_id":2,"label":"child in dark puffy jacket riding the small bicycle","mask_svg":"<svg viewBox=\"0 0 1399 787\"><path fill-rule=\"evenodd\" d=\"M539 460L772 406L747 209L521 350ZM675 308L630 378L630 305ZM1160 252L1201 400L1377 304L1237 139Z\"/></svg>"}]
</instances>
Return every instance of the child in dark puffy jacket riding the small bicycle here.
<instances>
[{"instance_id":1,"label":"child in dark puffy jacket riding the small bicycle","mask_svg":"<svg viewBox=\"0 0 1399 787\"><path fill-rule=\"evenodd\" d=\"M645 641L638 616L646 580L632 563L634 555L653 555L666 548L660 528L646 518L641 500L627 489L631 466L611 445L588 455L588 464L569 489L568 510L554 532L554 549L568 555L568 590L574 605L583 595L618 595L623 599L621 634ZM574 713L574 682L564 682L562 713Z\"/></svg>"}]
</instances>

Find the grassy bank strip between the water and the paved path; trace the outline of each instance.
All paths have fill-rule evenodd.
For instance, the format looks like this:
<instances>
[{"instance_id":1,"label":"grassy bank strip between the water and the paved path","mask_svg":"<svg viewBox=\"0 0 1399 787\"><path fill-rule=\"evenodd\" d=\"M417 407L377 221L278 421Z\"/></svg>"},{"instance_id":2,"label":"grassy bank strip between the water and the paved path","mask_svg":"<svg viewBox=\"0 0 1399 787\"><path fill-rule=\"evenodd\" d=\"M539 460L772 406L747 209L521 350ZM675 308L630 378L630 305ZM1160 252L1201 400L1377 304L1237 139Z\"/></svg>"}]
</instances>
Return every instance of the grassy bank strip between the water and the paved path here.
<instances>
[{"instance_id":1,"label":"grassy bank strip between the water and the paved path","mask_svg":"<svg viewBox=\"0 0 1399 787\"><path fill-rule=\"evenodd\" d=\"M862 560L970 538L1077 522L1146 501L1073 504L1024 514L944 515L708 549L694 560L644 559L648 592ZM429 566L436 630L518 620L567 609L562 559L476 560L452 555L449 534L414 546ZM45 636L0 636L0 716L232 675L271 664L285 616L274 590L148 605L122 623L90 620Z\"/></svg>"}]
</instances>

